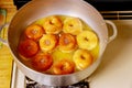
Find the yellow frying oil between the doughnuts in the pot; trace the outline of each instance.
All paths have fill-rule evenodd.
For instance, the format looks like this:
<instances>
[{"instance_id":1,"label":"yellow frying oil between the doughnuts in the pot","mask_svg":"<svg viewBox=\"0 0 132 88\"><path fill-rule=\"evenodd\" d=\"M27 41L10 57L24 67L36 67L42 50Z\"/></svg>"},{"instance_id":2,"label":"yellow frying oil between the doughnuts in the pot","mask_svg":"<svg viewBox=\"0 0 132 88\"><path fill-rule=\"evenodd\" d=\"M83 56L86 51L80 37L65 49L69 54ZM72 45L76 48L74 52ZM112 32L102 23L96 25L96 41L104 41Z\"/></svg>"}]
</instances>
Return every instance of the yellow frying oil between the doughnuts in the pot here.
<instances>
[{"instance_id":1,"label":"yellow frying oil between the doughnuts in the pot","mask_svg":"<svg viewBox=\"0 0 132 88\"><path fill-rule=\"evenodd\" d=\"M66 18L70 18L68 15L57 15L62 22L65 21ZM38 25L43 25L43 23L45 22L46 18L42 18L42 19L38 19L36 20L35 22L33 22L32 24L38 24ZM88 30L88 31L92 31L92 29L87 24L85 23L82 20L80 20L81 23L82 23L82 30ZM92 31L94 32L94 31ZM78 47L76 48L78 50ZM68 59L68 61L72 61L73 62L73 55L75 53L75 51L72 51L69 53L64 53L62 51L58 50L58 47L56 47L52 53L51 55L53 56L53 61L54 61L54 64L57 63L58 61L62 61L62 59ZM94 62L96 62L96 59L98 58L98 55L99 55L99 43L97 44L97 46L89 51L94 57ZM22 57L22 56L21 56ZM33 68L32 65L31 65L31 61L28 61L26 58L22 59L22 62L28 65L29 67ZM34 69L34 68L33 68ZM46 70L46 72L43 72L43 73L46 73L46 74L52 74L53 69L52 67ZM76 67L76 70L75 72L78 72L77 67Z\"/></svg>"}]
</instances>

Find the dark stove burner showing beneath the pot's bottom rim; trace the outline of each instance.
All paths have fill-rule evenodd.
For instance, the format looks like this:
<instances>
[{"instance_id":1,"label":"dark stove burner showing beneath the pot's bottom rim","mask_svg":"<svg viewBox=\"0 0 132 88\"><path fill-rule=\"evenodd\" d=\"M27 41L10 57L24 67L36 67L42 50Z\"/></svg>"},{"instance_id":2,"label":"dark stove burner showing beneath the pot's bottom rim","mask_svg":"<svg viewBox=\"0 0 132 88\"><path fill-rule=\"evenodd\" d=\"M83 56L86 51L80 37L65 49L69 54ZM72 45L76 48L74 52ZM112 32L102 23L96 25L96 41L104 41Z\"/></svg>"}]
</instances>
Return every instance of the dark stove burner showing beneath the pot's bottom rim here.
<instances>
[{"instance_id":1,"label":"dark stove burner showing beneath the pot's bottom rim","mask_svg":"<svg viewBox=\"0 0 132 88\"><path fill-rule=\"evenodd\" d=\"M29 77L25 77L25 84L26 84L26 88L89 88L89 82L87 80L82 80L66 87L51 87L51 86L40 85L38 82L30 79Z\"/></svg>"}]
</instances>

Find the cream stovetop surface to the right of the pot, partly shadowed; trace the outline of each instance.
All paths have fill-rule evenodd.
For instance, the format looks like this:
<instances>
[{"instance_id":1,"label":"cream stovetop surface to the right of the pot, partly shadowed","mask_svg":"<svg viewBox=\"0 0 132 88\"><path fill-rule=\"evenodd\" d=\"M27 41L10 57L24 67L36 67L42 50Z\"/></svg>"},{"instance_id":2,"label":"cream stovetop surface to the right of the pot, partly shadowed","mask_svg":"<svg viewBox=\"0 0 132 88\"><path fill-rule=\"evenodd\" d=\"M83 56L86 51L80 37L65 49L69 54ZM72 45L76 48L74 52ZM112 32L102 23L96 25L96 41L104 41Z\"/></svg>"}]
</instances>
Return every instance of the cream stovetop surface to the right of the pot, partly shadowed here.
<instances>
[{"instance_id":1,"label":"cream stovetop surface to the right of the pot, partly shadowed","mask_svg":"<svg viewBox=\"0 0 132 88\"><path fill-rule=\"evenodd\" d=\"M113 21L118 35L91 76L90 88L132 88L132 20Z\"/></svg>"}]
</instances>

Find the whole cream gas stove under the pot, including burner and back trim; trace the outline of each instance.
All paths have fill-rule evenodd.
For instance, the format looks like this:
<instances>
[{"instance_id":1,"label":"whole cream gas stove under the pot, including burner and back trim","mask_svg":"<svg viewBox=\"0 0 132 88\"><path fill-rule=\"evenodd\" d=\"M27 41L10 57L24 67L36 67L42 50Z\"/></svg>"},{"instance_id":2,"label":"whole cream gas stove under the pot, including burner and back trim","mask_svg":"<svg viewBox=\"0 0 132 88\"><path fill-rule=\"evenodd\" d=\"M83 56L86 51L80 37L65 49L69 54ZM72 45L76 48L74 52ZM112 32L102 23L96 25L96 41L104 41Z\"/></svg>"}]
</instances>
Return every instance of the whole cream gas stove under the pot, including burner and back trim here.
<instances>
[{"instance_id":1,"label":"whole cream gas stove under the pot, including burner and back trim","mask_svg":"<svg viewBox=\"0 0 132 88\"><path fill-rule=\"evenodd\" d=\"M100 13L105 20L110 20L117 25L118 36L108 44L101 64L90 77L67 87L44 86L28 78L14 63L11 88L132 88L132 11L110 11L113 8L108 8L109 11L99 9L102 10Z\"/></svg>"}]
</instances>

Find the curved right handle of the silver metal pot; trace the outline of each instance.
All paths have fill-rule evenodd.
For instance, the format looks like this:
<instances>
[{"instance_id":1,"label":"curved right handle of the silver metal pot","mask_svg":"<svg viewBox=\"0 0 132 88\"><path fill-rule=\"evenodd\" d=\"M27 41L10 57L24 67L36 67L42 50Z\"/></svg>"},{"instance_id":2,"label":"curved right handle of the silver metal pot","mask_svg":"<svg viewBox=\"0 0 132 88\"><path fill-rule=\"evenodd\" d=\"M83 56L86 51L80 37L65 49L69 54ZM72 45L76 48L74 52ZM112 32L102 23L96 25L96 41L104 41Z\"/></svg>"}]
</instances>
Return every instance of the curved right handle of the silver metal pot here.
<instances>
[{"instance_id":1,"label":"curved right handle of the silver metal pot","mask_svg":"<svg viewBox=\"0 0 132 88\"><path fill-rule=\"evenodd\" d=\"M112 21L106 20L106 23L110 24L112 26L112 35L108 37L108 43L110 43L111 41L113 41L117 37L118 34L118 30L116 24Z\"/></svg>"}]
</instances>

